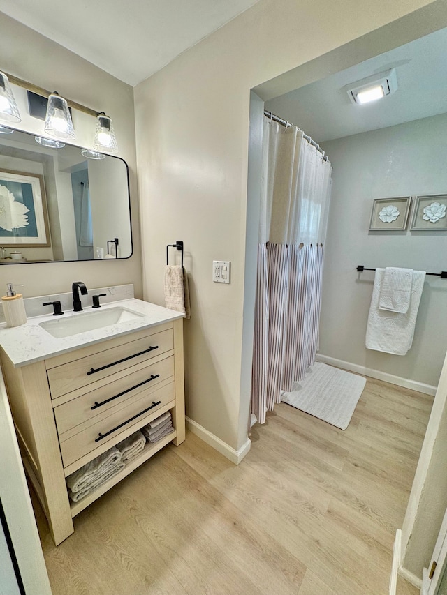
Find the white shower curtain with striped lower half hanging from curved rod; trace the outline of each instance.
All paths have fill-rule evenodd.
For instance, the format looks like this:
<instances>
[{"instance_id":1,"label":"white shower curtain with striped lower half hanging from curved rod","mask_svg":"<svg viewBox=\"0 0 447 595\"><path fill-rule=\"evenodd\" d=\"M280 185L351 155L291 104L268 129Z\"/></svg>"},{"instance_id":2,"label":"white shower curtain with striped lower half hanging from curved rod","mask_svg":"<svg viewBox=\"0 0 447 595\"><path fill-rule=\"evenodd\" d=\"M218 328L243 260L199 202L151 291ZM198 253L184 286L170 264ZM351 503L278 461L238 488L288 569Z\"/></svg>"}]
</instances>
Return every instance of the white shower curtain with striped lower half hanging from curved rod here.
<instances>
[{"instance_id":1,"label":"white shower curtain with striped lower half hanging from curved rod","mask_svg":"<svg viewBox=\"0 0 447 595\"><path fill-rule=\"evenodd\" d=\"M331 174L299 128L264 119L251 382L259 423L314 363Z\"/></svg>"}]
</instances>

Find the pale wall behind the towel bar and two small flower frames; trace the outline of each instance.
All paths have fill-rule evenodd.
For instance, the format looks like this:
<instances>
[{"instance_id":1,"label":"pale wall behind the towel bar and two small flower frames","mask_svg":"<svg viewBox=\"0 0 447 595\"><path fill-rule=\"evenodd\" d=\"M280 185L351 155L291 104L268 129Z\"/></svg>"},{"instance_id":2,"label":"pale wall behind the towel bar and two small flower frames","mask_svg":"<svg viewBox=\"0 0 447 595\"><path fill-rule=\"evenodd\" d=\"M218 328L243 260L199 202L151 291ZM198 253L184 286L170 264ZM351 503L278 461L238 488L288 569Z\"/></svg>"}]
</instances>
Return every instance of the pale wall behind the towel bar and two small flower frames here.
<instances>
[{"instance_id":1,"label":"pale wall behind the towel bar and two small flower frames","mask_svg":"<svg viewBox=\"0 0 447 595\"><path fill-rule=\"evenodd\" d=\"M368 232L374 198L447 193L446 135L443 114L323 143L333 186L321 354L437 386L447 349L446 280L426 277L413 346L394 356L365 348L374 273L356 266L447 269L447 232Z\"/></svg>"}]
</instances>

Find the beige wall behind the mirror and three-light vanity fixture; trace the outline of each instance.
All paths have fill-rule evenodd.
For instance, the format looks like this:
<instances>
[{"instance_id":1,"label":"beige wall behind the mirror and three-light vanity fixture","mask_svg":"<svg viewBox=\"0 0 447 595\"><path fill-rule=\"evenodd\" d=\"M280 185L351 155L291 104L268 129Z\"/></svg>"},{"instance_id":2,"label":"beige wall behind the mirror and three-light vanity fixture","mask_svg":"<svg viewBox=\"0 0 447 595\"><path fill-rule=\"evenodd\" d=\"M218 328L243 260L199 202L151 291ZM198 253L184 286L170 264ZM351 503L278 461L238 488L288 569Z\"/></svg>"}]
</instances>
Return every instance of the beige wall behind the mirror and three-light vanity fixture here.
<instances>
[{"instance_id":1,"label":"beige wall behind the mirror and three-light vanity fixture","mask_svg":"<svg viewBox=\"0 0 447 595\"><path fill-rule=\"evenodd\" d=\"M141 259L136 189L135 120L133 88L112 77L86 60L76 56L52 40L0 13L0 70L27 80L44 89L57 89L62 96L104 111L113 119L117 135L118 155L129 164L131 206L133 211L134 253L129 260L102 262L55 262L50 264L15 264L0 267L3 282L24 283L25 297L68 291L74 280L88 287L106 287L133 283L135 295L142 295ZM21 111L17 125L27 132L42 132L43 122ZM93 143L95 119L73 110L76 143Z\"/></svg>"}]
</instances>

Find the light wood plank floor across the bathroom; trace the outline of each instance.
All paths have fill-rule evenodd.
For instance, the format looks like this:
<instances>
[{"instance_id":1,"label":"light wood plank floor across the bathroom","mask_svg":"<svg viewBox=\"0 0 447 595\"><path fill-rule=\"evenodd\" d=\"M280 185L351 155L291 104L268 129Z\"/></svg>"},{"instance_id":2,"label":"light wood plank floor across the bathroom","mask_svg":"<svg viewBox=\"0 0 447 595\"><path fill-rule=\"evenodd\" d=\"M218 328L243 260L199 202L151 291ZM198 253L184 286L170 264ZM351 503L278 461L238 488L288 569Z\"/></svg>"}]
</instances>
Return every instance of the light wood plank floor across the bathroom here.
<instances>
[{"instance_id":1,"label":"light wood plank floor across the bathroom","mask_svg":"<svg viewBox=\"0 0 447 595\"><path fill-rule=\"evenodd\" d=\"M277 405L239 467L189 434L58 548L35 504L53 594L388 595L431 406L372 379L344 432Z\"/></svg>"}]
</instances>

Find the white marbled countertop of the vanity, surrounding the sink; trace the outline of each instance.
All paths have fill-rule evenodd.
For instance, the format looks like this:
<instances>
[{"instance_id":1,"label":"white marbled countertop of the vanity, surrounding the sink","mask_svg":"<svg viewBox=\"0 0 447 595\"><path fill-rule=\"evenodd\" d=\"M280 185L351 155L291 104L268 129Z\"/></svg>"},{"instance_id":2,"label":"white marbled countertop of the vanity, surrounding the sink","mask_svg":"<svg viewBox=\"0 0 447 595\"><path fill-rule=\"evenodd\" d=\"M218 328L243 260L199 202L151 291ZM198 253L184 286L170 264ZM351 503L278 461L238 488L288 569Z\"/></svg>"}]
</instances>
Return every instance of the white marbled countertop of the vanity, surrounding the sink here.
<instances>
[{"instance_id":1,"label":"white marbled countertop of the vanity, surrounding the sink","mask_svg":"<svg viewBox=\"0 0 447 595\"><path fill-rule=\"evenodd\" d=\"M106 310L108 308L122 307L134 312L139 312L142 317L138 319L127 320L110 326L103 326L101 329L94 331L85 331L76 335L68 337L55 338L50 333L47 333L41 322L49 320L66 319L67 317L82 317L87 312L95 312L99 310ZM156 306L154 303L142 301L139 299L125 299L120 301L112 301L105 303L101 309L93 309L91 307L84 308L82 312L73 312L68 310L64 312L63 316L35 316L29 318L22 326L14 326L8 328L6 323L0 324L0 345L4 352L14 364L14 366L26 366L35 361L41 361L56 355L74 351L80 347L87 347L87 345L94 345L114 337L119 337L133 333L134 331L141 331L142 329L149 329L156 324L163 324L163 322L170 322L184 318L182 312L175 312L162 306Z\"/></svg>"}]
</instances>

